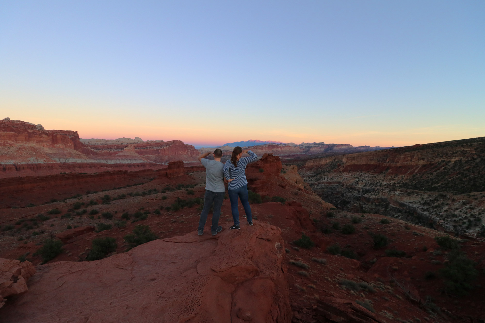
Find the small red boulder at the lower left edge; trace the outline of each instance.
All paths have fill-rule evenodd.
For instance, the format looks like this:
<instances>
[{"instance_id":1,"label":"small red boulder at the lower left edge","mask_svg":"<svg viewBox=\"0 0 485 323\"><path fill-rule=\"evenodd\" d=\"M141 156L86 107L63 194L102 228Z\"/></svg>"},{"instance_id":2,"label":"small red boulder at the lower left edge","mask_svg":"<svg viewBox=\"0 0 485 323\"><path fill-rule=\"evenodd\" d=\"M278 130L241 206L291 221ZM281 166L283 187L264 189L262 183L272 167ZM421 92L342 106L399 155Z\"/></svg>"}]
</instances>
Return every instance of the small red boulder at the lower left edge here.
<instances>
[{"instance_id":1,"label":"small red boulder at the lower left edge","mask_svg":"<svg viewBox=\"0 0 485 323\"><path fill-rule=\"evenodd\" d=\"M29 261L0 258L0 307L5 305L5 297L28 291L27 280L34 274L35 268Z\"/></svg>"}]
</instances>

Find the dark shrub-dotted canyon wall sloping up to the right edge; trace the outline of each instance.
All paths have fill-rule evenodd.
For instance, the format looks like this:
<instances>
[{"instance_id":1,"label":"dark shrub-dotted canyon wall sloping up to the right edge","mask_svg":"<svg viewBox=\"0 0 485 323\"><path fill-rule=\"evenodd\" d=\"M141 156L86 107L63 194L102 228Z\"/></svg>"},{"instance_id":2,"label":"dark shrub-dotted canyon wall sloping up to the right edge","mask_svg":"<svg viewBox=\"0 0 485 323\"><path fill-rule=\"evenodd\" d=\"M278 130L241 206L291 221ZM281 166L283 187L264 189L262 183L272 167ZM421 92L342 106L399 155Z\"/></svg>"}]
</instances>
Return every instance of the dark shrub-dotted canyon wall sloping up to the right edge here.
<instances>
[{"instance_id":1,"label":"dark shrub-dotted canyon wall sloping up to the right edge","mask_svg":"<svg viewBox=\"0 0 485 323\"><path fill-rule=\"evenodd\" d=\"M484 142L482 137L312 159L300 174L341 210L476 237L485 235Z\"/></svg>"}]
</instances>

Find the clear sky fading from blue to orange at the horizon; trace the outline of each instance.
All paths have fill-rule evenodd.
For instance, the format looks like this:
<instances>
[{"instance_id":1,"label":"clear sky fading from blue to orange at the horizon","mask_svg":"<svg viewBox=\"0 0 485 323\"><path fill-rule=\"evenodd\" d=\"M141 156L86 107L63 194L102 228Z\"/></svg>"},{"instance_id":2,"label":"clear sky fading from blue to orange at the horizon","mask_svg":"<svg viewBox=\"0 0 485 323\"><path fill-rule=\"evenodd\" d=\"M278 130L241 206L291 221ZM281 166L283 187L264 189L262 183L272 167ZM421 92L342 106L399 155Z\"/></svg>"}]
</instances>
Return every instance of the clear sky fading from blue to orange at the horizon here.
<instances>
[{"instance_id":1,"label":"clear sky fading from blue to orange at the horizon","mask_svg":"<svg viewBox=\"0 0 485 323\"><path fill-rule=\"evenodd\" d=\"M485 136L485 1L1 1L0 117L193 145Z\"/></svg>"}]
</instances>

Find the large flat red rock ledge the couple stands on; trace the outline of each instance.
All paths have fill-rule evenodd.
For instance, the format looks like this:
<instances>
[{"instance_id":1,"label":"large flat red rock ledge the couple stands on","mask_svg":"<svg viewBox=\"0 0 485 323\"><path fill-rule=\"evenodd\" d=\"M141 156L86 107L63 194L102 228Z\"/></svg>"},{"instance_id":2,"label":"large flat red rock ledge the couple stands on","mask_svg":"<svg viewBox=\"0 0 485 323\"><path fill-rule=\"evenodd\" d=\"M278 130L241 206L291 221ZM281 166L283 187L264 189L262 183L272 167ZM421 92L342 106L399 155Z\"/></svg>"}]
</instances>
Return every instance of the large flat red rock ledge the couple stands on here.
<instances>
[{"instance_id":1,"label":"large flat red rock ledge the couple stands on","mask_svg":"<svg viewBox=\"0 0 485 323\"><path fill-rule=\"evenodd\" d=\"M227 227L38 266L29 292L2 308L2 322L289 323L280 229Z\"/></svg>"}]
</instances>

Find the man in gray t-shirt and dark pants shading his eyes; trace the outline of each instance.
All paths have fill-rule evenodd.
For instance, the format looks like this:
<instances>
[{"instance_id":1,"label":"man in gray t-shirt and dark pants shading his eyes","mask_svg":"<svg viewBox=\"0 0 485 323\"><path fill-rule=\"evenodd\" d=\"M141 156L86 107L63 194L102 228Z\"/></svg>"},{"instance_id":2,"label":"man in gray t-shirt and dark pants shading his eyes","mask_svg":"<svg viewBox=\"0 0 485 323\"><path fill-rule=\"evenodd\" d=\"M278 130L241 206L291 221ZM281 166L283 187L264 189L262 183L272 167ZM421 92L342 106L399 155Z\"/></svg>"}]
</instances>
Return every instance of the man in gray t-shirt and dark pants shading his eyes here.
<instances>
[{"instance_id":1,"label":"man in gray t-shirt and dark pants shading his eyes","mask_svg":"<svg viewBox=\"0 0 485 323\"><path fill-rule=\"evenodd\" d=\"M210 231L215 236L218 232L221 232L222 226L219 226L219 217L221 216L221 206L226 194L226 188L224 187L224 173L222 169L224 164L221 162L222 150L217 148L214 150L214 160L206 159L207 156L212 153L205 153L200 155L199 161L206 167L206 194L204 195L204 208L200 213L199 226L197 227L197 234L201 236L204 234L204 226L206 225L207 215L209 214L210 207L214 203L214 213L212 214L212 226Z\"/></svg>"}]
</instances>

